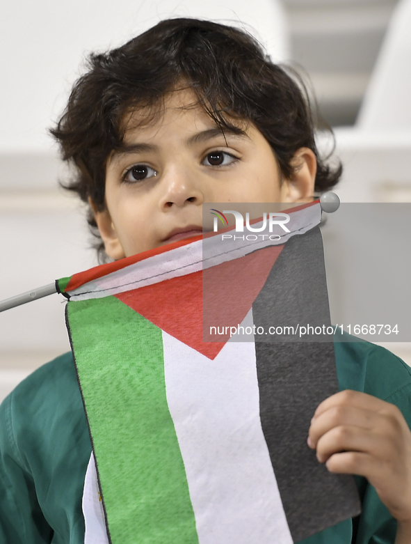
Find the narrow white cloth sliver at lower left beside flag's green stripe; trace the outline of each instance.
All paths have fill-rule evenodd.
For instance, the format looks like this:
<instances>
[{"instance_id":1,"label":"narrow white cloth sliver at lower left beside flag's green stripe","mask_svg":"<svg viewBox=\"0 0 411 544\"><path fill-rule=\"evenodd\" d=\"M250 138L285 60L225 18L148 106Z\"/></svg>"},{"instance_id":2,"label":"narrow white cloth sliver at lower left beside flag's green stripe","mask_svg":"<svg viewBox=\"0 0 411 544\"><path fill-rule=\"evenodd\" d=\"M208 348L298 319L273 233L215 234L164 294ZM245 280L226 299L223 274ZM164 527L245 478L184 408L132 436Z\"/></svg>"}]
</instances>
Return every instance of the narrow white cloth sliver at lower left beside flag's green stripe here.
<instances>
[{"instance_id":1,"label":"narrow white cloth sliver at lower left beside flag's green stripe","mask_svg":"<svg viewBox=\"0 0 411 544\"><path fill-rule=\"evenodd\" d=\"M108 544L103 505L100 500L94 455L88 461L83 490L83 515L86 524L84 544Z\"/></svg>"}]
</instances>

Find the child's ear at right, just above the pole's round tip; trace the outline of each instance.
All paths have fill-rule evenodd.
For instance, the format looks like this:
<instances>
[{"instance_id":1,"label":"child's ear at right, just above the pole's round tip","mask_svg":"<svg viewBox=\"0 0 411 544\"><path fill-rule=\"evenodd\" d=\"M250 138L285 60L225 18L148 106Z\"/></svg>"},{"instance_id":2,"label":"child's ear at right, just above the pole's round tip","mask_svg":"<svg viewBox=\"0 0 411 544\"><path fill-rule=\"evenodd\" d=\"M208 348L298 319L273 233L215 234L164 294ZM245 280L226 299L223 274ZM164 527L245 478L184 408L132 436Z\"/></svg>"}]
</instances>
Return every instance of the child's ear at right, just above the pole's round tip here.
<instances>
[{"instance_id":1,"label":"child's ear at right, just above the pole's round tip","mask_svg":"<svg viewBox=\"0 0 411 544\"><path fill-rule=\"evenodd\" d=\"M284 202L311 202L314 196L314 185L317 161L314 151L300 148L291 160L294 173L291 179L285 180Z\"/></svg>"}]
</instances>

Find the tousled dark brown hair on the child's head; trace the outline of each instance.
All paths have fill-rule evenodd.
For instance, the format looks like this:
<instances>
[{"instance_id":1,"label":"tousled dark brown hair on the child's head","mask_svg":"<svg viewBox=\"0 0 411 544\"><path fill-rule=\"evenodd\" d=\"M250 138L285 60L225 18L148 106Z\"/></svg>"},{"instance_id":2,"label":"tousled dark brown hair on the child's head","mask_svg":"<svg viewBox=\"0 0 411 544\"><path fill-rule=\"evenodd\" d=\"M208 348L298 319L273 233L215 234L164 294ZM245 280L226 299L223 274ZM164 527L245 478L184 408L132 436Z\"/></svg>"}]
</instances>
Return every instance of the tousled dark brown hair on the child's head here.
<instances>
[{"instance_id":1,"label":"tousled dark brown hair on the child's head","mask_svg":"<svg viewBox=\"0 0 411 544\"><path fill-rule=\"evenodd\" d=\"M291 69L273 64L259 42L231 26L195 19L164 20L122 47L91 54L88 71L74 84L56 127L50 130L63 160L76 176L63 185L105 209L105 164L124 137L124 116L135 108L161 114L166 93L188 86L198 104L224 131L232 122L253 123L270 143L282 176L292 178L291 159L301 147L316 155L315 189L323 192L341 176L341 164L325 164L314 141L307 92ZM92 212L88 223L104 245Z\"/></svg>"}]
</instances>

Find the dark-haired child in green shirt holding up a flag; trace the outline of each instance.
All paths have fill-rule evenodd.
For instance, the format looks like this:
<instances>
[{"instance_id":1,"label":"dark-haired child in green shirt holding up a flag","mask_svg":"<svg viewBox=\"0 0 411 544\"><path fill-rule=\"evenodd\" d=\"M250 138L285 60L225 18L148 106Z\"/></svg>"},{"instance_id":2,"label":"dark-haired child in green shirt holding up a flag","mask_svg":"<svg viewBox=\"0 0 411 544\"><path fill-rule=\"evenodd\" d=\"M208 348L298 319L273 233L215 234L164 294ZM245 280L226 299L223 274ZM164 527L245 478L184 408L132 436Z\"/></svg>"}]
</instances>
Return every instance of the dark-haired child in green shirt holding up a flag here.
<instances>
[{"instance_id":1,"label":"dark-haired child in green shirt holding up a flag","mask_svg":"<svg viewBox=\"0 0 411 544\"><path fill-rule=\"evenodd\" d=\"M91 56L51 132L102 260L198 235L202 203L309 202L341 173L320 160L291 77L250 36L204 21L163 21ZM360 476L362 515L304 542L410 543L410 371L365 342L335 355L341 391L313 414L307 443L330 472ZM1 405L1 543L84 542L91 451L65 354Z\"/></svg>"}]
</instances>

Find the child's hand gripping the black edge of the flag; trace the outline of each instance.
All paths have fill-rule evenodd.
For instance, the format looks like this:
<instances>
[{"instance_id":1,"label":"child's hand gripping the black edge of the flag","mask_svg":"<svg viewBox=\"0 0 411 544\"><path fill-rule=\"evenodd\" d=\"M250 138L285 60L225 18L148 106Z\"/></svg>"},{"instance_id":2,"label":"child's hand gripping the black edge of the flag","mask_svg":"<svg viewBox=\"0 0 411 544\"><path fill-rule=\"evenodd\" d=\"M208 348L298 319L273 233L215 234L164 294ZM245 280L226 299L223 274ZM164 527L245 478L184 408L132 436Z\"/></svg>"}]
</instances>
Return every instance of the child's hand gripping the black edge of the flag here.
<instances>
[{"instance_id":1,"label":"child's hand gripping the black edge of the flag","mask_svg":"<svg viewBox=\"0 0 411 544\"><path fill-rule=\"evenodd\" d=\"M396 542L411 542L399 538L411 528L411 431L396 406L340 391L317 407L307 443L330 472L365 476L400 522Z\"/></svg>"}]
</instances>

